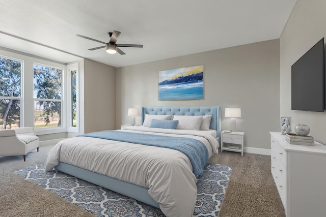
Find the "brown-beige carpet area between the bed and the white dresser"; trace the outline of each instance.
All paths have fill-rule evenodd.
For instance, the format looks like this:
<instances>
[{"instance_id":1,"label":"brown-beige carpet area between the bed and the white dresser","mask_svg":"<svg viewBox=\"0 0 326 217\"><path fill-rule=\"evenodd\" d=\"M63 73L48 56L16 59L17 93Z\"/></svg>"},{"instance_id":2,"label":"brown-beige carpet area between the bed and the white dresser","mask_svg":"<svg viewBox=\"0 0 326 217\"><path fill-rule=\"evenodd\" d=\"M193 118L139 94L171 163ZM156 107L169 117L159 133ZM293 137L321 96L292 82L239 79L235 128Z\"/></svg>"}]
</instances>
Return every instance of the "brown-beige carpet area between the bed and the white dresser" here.
<instances>
[{"instance_id":1,"label":"brown-beige carpet area between the bed and the white dresser","mask_svg":"<svg viewBox=\"0 0 326 217\"><path fill-rule=\"evenodd\" d=\"M270 156L223 151L209 163L232 167L219 217L285 217L273 177Z\"/></svg>"}]
</instances>

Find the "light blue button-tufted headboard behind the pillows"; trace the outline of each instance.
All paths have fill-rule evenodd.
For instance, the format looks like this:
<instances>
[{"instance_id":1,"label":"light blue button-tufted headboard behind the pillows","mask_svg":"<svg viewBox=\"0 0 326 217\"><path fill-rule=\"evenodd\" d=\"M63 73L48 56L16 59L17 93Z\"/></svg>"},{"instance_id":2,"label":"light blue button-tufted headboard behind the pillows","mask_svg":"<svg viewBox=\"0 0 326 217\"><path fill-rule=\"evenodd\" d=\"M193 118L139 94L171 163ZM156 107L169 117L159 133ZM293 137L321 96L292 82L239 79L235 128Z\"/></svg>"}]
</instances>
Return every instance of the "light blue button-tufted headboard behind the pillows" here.
<instances>
[{"instance_id":1,"label":"light blue button-tufted headboard behind the pillows","mask_svg":"<svg viewBox=\"0 0 326 217\"><path fill-rule=\"evenodd\" d=\"M142 107L142 124L145 114L172 114L172 115L212 115L209 128L218 132L221 137L221 107Z\"/></svg>"}]
</instances>

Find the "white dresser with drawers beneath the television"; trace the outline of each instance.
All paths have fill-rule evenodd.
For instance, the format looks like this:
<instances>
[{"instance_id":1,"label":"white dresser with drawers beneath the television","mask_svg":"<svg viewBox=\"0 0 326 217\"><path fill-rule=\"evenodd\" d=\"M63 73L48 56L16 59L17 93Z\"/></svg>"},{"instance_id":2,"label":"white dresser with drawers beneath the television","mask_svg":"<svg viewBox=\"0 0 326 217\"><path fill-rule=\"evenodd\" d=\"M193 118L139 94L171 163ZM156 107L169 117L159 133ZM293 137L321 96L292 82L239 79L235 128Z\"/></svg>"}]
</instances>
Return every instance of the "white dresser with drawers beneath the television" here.
<instances>
[{"instance_id":1,"label":"white dresser with drawers beneath the television","mask_svg":"<svg viewBox=\"0 0 326 217\"><path fill-rule=\"evenodd\" d=\"M270 133L271 174L287 217L326 216L326 146L290 145Z\"/></svg>"}]
</instances>

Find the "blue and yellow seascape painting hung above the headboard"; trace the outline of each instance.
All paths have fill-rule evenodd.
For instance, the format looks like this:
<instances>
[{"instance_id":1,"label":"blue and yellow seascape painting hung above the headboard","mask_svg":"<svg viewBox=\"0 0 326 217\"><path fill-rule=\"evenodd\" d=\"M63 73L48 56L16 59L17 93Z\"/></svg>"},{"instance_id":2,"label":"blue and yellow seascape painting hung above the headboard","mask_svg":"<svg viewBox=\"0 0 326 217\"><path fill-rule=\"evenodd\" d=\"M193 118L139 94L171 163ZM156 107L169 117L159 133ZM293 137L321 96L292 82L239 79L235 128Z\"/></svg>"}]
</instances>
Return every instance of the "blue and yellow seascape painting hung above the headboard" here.
<instances>
[{"instance_id":1,"label":"blue and yellow seascape painting hung above the headboard","mask_svg":"<svg viewBox=\"0 0 326 217\"><path fill-rule=\"evenodd\" d=\"M204 66L158 72L158 100L203 100Z\"/></svg>"}]
</instances>

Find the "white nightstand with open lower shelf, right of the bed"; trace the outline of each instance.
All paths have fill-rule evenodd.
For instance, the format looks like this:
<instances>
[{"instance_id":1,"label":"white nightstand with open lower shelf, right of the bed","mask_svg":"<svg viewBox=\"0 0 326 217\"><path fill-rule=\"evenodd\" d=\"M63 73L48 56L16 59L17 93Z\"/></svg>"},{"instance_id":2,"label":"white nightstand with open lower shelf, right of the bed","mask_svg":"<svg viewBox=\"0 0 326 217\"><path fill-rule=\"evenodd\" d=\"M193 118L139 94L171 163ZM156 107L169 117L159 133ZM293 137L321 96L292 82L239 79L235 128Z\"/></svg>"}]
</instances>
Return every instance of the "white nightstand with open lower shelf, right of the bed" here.
<instances>
[{"instance_id":1,"label":"white nightstand with open lower shelf, right of the bed","mask_svg":"<svg viewBox=\"0 0 326 217\"><path fill-rule=\"evenodd\" d=\"M221 152L223 150L241 152L243 156L244 132L221 133Z\"/></svg>"}]
</instances>

